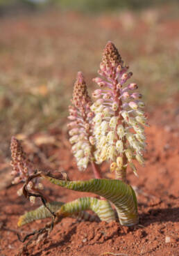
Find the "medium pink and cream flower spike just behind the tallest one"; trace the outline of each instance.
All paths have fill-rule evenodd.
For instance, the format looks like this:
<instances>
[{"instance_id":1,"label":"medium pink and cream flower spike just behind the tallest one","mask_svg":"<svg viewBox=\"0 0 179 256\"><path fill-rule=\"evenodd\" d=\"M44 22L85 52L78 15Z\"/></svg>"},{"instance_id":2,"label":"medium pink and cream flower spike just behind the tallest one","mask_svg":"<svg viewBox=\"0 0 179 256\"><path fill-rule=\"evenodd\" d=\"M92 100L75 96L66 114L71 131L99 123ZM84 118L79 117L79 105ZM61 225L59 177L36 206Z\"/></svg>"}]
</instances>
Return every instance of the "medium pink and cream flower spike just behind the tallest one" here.
<instances>
[{"instance_id":1,"label":"medium pink and cream flower spike just behind the tallest one","mask_svg":"<svg viewBox=\"0 0 179 256\"><path fill-rule=\"evenodd\" d=\"M92 117L94 114L90 107L92 100L87 93L87 85L83 74L78 72L74 84L72 104L69 106L69 142L73 144L72 152L76 158L78 169L83 171L87 168L92 158L94 137L92 136Z\"/></svg>"}]
</instances>

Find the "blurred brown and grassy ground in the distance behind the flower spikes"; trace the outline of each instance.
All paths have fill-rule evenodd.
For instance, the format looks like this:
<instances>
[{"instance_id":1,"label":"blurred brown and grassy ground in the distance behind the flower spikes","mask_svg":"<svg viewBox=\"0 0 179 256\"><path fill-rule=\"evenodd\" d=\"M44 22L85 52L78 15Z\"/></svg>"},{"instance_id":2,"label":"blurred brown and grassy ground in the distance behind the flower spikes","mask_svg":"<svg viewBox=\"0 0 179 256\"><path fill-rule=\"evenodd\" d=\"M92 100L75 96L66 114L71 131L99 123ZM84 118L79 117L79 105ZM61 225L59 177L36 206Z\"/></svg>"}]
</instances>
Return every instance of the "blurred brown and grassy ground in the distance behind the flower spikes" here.
<instances>
[{"instance_id":1,"label":"blurred brown and grassy ground in the distance behind the flower spikes","mask_svg":"<svg viewBox=\"0 0 179 256\"><path fill-rule=\"evenodd\" d=\"M151 115L176 99L178 8L174 0L0 0L0 160L12 135L65 129L76 73L96 88L108 40Z\"/></svg>"}]
</instances>

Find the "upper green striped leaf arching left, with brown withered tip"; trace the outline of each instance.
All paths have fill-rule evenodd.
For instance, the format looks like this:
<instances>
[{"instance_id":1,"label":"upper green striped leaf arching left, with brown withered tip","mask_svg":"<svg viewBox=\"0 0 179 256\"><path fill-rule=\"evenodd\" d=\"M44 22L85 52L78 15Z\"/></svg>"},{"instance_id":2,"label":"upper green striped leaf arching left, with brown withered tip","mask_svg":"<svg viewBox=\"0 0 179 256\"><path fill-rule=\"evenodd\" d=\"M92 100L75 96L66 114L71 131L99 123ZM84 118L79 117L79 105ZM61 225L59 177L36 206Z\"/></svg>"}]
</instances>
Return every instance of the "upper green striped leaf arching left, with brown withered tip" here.
<instances>
[{"instance_id":1,"label":"upper green striped leaf arching left, with brown withered tip","mask_svg":"<svg viewBox=\"0 0 179 256\"><path fill-rule=\"evenodd\" d=\"M121 225L138 223L137 198L133 188L116 179L89 179L88 181L62 181L42 174L44 179L70 190L95 193L105 197L116 207Z\"/></svg>"}]
</instances>

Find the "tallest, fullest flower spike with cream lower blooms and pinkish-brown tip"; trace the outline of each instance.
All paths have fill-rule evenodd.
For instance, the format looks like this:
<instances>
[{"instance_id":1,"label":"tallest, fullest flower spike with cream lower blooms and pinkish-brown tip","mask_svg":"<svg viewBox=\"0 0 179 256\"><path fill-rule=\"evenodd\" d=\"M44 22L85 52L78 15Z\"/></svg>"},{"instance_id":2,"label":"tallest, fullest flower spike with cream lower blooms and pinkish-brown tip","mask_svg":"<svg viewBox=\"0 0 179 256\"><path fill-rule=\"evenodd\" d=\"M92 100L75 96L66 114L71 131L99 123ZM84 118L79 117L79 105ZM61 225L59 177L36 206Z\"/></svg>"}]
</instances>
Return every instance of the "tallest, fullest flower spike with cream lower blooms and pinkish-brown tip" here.
<instances>
[{"instance_id":1,"label":"tallest, fullest flower spike with cream lower blooms and pinkish-brown tip","mask_svg":"<svg viewBox=\"0 0 179 256\"><path fill-rule=\"evenodd\" d=\"M136 174L135 165L131 163L133 159L144 164L144 126L147 125L142 110L144 103L139 100L142 95L134 92L137 84L126 84L133 73L128 73L128 66L123 65L117 48L111 42L103 51L99 75L103 78L93 80L100 89L94 91L96 102L91 106L95 114L96 162L110 160L111 171L115 170L117 178L125 181L128 164Z\"/></svg>"}]
</instances>

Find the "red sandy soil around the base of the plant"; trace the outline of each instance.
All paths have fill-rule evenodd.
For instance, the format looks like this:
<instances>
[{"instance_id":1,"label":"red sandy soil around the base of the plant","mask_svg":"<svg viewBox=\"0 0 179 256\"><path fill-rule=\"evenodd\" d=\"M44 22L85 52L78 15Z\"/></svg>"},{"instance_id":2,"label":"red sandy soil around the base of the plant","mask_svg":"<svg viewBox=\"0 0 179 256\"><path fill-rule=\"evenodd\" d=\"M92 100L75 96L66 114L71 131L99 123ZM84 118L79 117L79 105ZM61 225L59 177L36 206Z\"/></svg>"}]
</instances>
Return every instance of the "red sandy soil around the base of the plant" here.
<instances>
[{"instance_id":1,"label":"red sandy soil around the base of the plant","mask_svg":"<svg viewBox=\"0 0 179 256\"><path fill-rule=\"evenodd\" d=\"M178 253L178 156L179 156L179 112L178 97L171 100L161 109L149 116L151 127L147 128L148 151L146 167L139 167L137 178L128 172L128 181L138 190L139 225L121 227L119 223L77 222L73 218L64 218L54 227L50 236L39 243L32 243L22 250L24 244L17 239L17 220L32 206L24 197L16 194L18 186L9 186L0 191L1 209L1 248L0 255L124 255L177 256ZM40 146L40 153L53 160L53 169L65 170L71 180L89 179L92 170L78 172L74 158L70 153L67 131L49 130L49 133L35 134L31 142ZM51 137L50 137L51 136ZM49 139L50 138L50 139ZM55 138L56 140L52 140ZM43 143L42 143L43 140ZM48 142L51 140L51 143ZM37 143L38 142L38 143ZM24 144L32 156L33 148ZM48 164L42 164L39 153L33 154L35 163L42 170L49 170ZM103 175L110 177L108 165L103 165ZM8 172L8 171L7 171ZM45 184L46 195L53 200L68 202L87 193L76 193L71 190ZM40 204L40 201L35 206ZM34 207L34 206L33 206ZM22 236L35 229L40 229L48 220L38 220L21 229ZM19 253L20 252L20 253ZM106 254L104 254L106 253Z\"/></svg>"}]
</instances>

